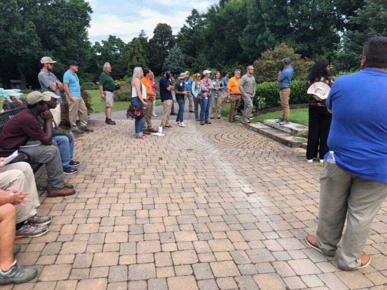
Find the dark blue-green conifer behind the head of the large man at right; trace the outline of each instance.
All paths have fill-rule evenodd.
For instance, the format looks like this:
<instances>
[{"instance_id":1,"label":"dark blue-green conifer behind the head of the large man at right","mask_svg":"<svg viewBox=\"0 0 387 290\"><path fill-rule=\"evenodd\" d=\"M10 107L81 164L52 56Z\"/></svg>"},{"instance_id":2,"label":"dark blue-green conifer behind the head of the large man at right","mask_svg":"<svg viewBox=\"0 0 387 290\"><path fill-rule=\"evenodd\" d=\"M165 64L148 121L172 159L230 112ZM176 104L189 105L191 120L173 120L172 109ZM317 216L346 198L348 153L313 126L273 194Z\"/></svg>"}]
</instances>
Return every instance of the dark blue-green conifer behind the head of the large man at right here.
<instances>
[{"instance_id":1,"label":"dark blue-green conifer behind the head of the large man at right","mask_svg":"<svg viewBox=\"0 0 387 290\"><path fill-rule=\"evenodd\" d=\"M385 0L365 0L365 5L350 18L350 25L357 27L344 34L342 47L335 59L338 70L358 69L363 44L374 36L386 36L387 8Z\"/></svg>"}]
</instances>

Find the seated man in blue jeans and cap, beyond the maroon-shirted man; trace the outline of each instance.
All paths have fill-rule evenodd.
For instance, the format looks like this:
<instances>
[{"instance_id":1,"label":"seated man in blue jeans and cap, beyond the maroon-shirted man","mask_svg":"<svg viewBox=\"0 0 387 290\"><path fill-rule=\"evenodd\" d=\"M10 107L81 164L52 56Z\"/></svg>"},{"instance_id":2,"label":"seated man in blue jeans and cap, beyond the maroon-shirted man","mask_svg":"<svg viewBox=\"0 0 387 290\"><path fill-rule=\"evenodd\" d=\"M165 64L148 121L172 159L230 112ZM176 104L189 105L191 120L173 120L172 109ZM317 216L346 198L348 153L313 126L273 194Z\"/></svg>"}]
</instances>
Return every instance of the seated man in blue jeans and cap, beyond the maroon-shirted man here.
<instances>
[{"instance_id":1,"label":"seated man in blue jeans and cap, beyond the maroon-shirted man","mask_svg":"<svg viewBox=\"0 0 387 290\"><path fill-rule=\"evenodd\" d=\"M47 102L47 108L49 110L55 109L57 106L56 99L60 98L54 93L44 92L43 95L47 95L51 98ZM42 126L44 126L44 120L38 116L38 120ZM62 160L63 173L64 174L74 174L78 172L77 168L74 168L79 165L78 161L73 160L74 154L74 135L72 132L63 130L62 128L56 125L54 119L52 119L52 139L55 140L59 153L60 159Z\"/></svg>"}]
</instances>

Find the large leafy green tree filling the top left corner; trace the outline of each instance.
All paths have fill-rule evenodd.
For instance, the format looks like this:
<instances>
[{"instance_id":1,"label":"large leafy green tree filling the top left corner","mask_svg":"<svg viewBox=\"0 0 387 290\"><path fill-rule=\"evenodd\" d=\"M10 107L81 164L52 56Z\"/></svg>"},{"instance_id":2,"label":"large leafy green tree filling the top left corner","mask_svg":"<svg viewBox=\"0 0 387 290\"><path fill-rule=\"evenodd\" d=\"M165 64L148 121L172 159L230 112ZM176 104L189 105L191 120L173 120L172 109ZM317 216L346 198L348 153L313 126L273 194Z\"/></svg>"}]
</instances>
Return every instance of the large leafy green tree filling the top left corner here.
<instances>
[{"instance_id":1,"label":"large leafy green tree filling the top left corner","mask_svg":"<svg viewBox=\"0 0 387 290\"><path fill-rule=\"evenodd\" d=\"M70 59L88 65L91 45L86 28L92 13L88 2L9 0L0 2L0 12L0 70L5 87L11 78L20 78L23 88L27 83L38 85L38 63L44 55L57 60L58 76Z\"/></svg>"}]
</instances>

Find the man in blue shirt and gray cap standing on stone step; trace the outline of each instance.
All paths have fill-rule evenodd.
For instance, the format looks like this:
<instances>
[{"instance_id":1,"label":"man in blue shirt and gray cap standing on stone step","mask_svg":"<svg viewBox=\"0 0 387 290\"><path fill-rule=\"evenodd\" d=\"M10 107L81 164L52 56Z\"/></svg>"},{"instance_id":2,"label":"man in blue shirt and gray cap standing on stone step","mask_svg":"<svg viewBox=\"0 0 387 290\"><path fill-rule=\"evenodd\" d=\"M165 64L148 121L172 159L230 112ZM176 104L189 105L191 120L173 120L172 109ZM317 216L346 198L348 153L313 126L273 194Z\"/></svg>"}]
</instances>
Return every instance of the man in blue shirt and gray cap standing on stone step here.
<instances>
[{"instance_id":1,"label":"man in blue shirt and gray cap standing on stone step","mask_svg":"<svg viewBox=\"0 0 387 290\"><path fill-rule=\"evenodd\" d=\"M290 65L290 58L285 57L282 59L283 68L278 71L277 81L278 87L280 89L280 100L282 106L282 118L278 119L276 122L280 123L280 125L289 124L289 96L290 96L290 82L293 77L293 67Z\"/></svg>"}]
</instances>

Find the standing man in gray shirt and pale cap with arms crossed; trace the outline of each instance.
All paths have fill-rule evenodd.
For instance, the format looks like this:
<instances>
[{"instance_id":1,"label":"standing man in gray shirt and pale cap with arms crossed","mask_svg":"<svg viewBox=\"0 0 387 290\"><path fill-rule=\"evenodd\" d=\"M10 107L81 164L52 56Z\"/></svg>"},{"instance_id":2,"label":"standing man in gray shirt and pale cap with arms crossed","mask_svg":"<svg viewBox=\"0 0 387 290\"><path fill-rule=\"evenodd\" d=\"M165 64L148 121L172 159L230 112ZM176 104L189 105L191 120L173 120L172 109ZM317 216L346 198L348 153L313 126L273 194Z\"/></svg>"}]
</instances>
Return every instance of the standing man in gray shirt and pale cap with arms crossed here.
<instances>
[{"instance_id":1,"label":"standing man in gray shirt and pale cap with arms crossed","mask_svg":"<svg viewBox=\"0 0 387 290\"><path fill-rule=\"evenodd\" d=\"M52 92L59 97L56 99L56 108L51 109L50 111L56 124L60 124L60 104L62 103L60 91L63 90L63 84L60 83L58 78L52 73L55 62L56 61L52 60L49 56L43 56L42 59L40 59L41 69L38 80L43 92Z\"/></svg>"}]
</instances>

